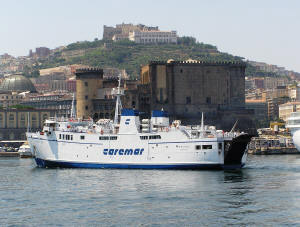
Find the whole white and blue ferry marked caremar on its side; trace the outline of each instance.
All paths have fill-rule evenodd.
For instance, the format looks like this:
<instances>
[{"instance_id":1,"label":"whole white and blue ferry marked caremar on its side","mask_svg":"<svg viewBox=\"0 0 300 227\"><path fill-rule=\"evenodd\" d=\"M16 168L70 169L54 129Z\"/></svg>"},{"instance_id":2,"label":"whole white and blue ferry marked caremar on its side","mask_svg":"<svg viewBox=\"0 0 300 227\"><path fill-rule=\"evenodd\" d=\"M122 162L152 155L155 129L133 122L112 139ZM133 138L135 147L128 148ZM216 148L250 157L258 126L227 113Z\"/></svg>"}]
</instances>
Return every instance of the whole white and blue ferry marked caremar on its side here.
<instances>
[{"instance_id":1,"label":"whole white and blue ferry marked caremar on its side","mask_svg":"<svg viewBox=\"0 0 300 227\"><path fill-rule=\"evenodd\" d=\"M247 133L223 132L204 125L169 122L168 113L152 111L140 119L139 111L122 109L123 91L114 89L114 121L52 118L40 132L27 132L31 152L39 167L224 169L246 163Z\"/></svg>"}]
</instances>

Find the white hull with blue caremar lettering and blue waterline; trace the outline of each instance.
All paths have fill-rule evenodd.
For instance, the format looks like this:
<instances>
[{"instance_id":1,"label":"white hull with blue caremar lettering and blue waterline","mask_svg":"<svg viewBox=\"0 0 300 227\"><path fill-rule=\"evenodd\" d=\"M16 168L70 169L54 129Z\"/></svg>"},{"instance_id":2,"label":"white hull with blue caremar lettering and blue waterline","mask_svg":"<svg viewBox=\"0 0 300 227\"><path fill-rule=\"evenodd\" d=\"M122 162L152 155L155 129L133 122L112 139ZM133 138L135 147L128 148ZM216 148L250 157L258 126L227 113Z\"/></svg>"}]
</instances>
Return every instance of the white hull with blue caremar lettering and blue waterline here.
<instances>
[{"instance_id":1,"label":"white hull with blue caremar lettering and blue waterline","mask_svg":"<svg viewBox=\"0 0 300 227\"><path fill-rule=\"evenodd\" d=\"M63 133L63 132L61 132ZM57 139L55 133L27 133L35 160L40 167L73 168L142 168L142 169L222 169L224 145L222 138L184 139L182 132L159 133L161 140L141 140L142 134L118 135L117 140L99 140L99 134L65 133L74 140ZM115 136L115 135L112 135ZM180 138L183 139L180 139ZM173 139L172 139L173 138ZM177 138L177 139L176 139ZM162 142L163 141L163 142ZM203 145L211 149L202 149ZM199 149L199 147L201 149ZM198 148L198 149L197 149ZM241 168L241 162L230 168Z\"/></svg>"}]
</instances>

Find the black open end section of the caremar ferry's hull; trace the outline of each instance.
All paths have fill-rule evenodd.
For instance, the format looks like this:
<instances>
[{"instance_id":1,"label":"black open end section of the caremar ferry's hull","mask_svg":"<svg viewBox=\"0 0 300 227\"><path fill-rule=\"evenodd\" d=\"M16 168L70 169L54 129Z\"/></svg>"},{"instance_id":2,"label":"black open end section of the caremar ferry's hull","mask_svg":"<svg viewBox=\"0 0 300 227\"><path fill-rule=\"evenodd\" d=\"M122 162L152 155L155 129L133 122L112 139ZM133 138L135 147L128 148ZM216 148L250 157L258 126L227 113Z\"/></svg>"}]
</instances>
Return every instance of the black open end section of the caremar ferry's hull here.
<instances>
[{"instance_id":1,"label":"black open end section of the caremar ferry's hull","mask_svg":"<svg viewBox=\"0 0 300 227\"><path fill-rule=\"evenodd\" d=\"M251 135L242 134L231 141L225 141L225 156L224 166L237 166L242 165L242 158L247 152L247 145L251 140Z\"/></svg>"}]
</instances>

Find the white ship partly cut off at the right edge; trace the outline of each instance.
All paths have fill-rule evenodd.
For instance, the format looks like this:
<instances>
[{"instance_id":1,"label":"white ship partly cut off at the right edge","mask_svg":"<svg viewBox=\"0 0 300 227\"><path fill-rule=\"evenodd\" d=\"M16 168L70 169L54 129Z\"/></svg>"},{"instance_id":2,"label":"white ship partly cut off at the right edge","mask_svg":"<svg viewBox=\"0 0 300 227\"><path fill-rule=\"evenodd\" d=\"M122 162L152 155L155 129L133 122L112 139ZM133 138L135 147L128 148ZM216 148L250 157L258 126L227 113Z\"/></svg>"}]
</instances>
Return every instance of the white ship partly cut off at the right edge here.
<instances>
[{"instance_id":1,"label":"white ship partly cut off at the right edge","mask_svg":"<svg viewBox=\"0 0 300 227\"><path fill-rule=\"evenodd\" d=\"M300 112L291 113L285 127L291 131L293 143L297 150L300 151Z\"/></svg>"}]
</instances>

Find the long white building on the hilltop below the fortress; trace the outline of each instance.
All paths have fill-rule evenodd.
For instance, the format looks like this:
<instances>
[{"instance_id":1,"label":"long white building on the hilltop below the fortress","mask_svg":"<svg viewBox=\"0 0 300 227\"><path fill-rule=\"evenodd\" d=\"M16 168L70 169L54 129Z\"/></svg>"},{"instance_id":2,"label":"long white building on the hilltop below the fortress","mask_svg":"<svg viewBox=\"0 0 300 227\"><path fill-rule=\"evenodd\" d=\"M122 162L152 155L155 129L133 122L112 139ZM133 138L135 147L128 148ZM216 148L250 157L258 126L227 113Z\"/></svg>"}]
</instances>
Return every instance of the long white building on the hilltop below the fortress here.
<instances>
[{"instance_id":1,"label":"long white building on the hilltop below the fortress","mask_svg":"<svg viewBox=\"0 0 300 227\"><path fill-rule=\"evenodd\" d=\"M177 43L176 31L132 31L129 40L135 43Z\"/></svg>"}]
</instances>

